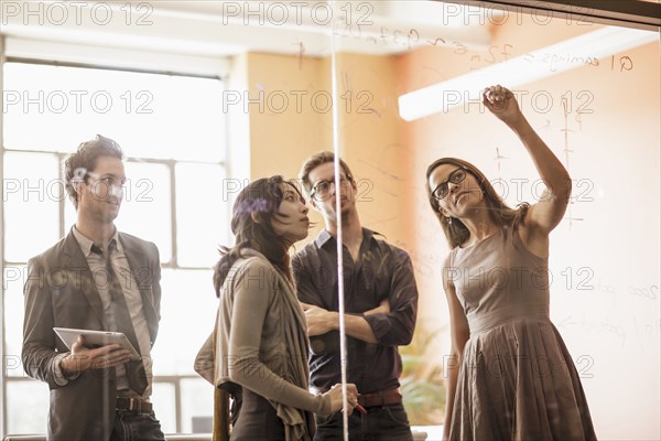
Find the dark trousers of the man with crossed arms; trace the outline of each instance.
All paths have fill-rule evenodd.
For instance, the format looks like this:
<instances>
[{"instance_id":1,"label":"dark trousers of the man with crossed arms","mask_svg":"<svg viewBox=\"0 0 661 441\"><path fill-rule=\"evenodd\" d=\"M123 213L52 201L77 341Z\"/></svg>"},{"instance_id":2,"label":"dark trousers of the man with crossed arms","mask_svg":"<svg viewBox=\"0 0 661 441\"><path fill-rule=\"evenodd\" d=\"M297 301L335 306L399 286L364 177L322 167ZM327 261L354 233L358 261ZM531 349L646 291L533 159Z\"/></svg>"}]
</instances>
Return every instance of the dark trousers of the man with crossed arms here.
<instances>
[{"instance_id":1,"label":"dark trousers of the man with crossed arms","mask_svg":"<svg viewBox=\"0 0 661 441\"><path fill-rule=\"evenodd\" d=\"M316 417L317 431L314 441L342 441L342 412L329 417ZM367 415L354 410L349 416L350 441L411 441L409 418L402 404L369 407Z\"/></svg>"}]
</instances>

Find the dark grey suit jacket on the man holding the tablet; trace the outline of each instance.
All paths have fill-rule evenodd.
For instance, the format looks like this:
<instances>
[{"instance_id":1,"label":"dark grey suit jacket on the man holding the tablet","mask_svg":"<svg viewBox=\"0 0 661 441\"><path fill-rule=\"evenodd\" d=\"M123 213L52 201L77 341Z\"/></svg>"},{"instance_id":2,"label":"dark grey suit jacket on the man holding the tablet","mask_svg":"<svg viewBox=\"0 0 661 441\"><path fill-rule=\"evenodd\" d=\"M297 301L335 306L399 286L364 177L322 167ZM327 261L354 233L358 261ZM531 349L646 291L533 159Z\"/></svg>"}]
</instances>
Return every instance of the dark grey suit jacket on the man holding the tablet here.
<instances>
[{"instance_id":1,"label":"dark grey suit jacket on the man holding the tablet","mask_svg":"<svg viewBox=\"0 0 661 441\"><path fill-rule=\"evenodd\" d=\"M134 276L153 345L159 331L161 266L152 243L119 233ZM73 233L28 262L22 362L51 388L50 440L108 440L115 422L115 368L89 369L58 386L54 358L68 349L53 327L104 330L101 298Z\"/></svg>"}]
</instances>

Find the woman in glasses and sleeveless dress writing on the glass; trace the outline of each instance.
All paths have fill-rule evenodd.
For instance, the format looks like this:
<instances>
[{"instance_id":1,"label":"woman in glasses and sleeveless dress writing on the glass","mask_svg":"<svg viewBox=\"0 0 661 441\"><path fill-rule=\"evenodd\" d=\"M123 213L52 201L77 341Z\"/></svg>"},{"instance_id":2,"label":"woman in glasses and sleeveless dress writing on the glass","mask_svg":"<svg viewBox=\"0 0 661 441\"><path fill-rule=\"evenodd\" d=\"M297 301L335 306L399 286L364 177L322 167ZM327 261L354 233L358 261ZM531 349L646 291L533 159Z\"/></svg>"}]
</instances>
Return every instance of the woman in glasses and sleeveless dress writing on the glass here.
<instances>
[{"instance_id":1,"label":"woman in glasses and sleeveless dress writing on the glass","mask_svg":"<svg viewBox=\"0 0 661 441\"><path fill-rule=\"evenodd\" d=\"M451 246L443 437L594 440L578 374L549 320L549 234L562 220L572 181L510 90L488 87L483 103L519 136L546 190L538 203L513 209L466 161L443 158L427 169L430 204Z\"/></svg>"}]
</instances>

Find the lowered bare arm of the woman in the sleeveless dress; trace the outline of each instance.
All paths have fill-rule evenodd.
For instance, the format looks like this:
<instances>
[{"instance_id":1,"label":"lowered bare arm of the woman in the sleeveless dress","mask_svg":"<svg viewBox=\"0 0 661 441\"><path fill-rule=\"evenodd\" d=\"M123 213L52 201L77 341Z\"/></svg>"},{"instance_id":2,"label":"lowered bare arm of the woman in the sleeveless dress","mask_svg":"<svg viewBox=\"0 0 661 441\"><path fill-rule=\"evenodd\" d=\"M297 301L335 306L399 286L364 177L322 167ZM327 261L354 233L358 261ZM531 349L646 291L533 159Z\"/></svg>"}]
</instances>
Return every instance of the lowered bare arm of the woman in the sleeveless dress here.
<instances>
[{"instance_id":1,"label":"lowered bare arm of the woman in the sleeveless dress","mask_svg":"<svg viewBox=\"0 0 661 441\"><path fill-rule=\"evenodd\" d=\"M445 366L447 370L446 376L446 399L445 399L445 422L443 426L443 439L449 439L449 423L452 419L452 412L454 409L454 399L457 390L457 377L459 375L459 366L462 361L462 353L464 346L470 336L468 329L468 321L464 313L464 308L457 298L455 292L454 283L449 277L452 273L449 266L449 257L445 260L443 268L443 288L447 298L447 305L449 309L449 335L451 335L451 349L449 359L447 359Z\"/></svg>"}]
</instances>

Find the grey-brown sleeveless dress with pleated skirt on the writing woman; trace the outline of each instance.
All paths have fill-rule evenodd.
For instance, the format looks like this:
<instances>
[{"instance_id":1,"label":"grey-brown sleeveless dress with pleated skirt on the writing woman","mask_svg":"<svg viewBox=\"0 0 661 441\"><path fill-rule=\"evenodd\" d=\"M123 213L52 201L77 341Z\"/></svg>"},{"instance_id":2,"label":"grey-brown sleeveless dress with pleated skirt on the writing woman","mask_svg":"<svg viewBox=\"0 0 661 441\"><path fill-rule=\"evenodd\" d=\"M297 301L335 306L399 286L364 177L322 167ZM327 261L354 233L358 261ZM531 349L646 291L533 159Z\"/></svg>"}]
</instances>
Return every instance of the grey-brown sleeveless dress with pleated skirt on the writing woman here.
<instances>
[{"instance_id":1,"label":"grey-brown sleeveless dress with pleated skirt on the writing woman","mask_svg":"<svg viewBox=\"0 0 661 441\"><path fill-rule=\"evenodd\" d=\"M546 259L505 227L451 252L470 327L451 440L595 440L578 374L549 320Z\"/></svg>"}]
</instances>

